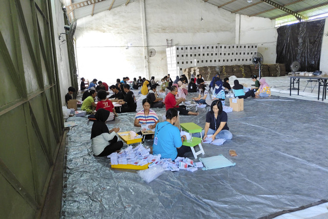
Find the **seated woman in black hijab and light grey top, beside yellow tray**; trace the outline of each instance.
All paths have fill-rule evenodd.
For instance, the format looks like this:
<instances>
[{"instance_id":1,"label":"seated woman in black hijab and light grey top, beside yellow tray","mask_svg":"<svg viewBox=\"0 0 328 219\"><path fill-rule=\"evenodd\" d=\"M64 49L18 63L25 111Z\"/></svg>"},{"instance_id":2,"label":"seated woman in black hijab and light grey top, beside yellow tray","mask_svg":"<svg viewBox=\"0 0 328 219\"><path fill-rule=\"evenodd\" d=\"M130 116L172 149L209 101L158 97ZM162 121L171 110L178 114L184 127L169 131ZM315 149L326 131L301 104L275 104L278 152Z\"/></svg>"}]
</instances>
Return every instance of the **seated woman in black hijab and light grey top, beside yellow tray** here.
<instances>
[{"instance_id":1,"label":"seated woman in black hijab and light grey top, beside yellow tray","mask_svg":"<svg viewBox=\"0 0 328 219\"><path fill-rule=\"evenodd\" d=\"M91 148L95 156L108 156L123 147L122 141L117 141L116 133L119 128L108 130L105 124L108 116L109 111L103 108L95 114L96 121L91 129Z\"/></svg>"}]
</instances>

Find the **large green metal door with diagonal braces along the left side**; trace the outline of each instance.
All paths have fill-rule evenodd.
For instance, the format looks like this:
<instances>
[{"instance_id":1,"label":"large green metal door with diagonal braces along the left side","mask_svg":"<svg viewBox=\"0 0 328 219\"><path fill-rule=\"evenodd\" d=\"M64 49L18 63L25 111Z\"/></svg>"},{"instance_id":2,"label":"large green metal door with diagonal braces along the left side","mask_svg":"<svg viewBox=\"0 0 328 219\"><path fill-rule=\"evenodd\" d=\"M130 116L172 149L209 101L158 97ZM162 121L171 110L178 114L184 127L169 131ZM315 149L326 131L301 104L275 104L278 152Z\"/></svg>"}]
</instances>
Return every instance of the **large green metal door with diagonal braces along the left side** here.
<instances>
[{"instance_id":1,"label":"large green metal door with diagonal braces along the left side","mask_svg":"<svg viewBox=\"0 0 328 219\"><path fill-rule=\"evenodd\" d=\"M68 53L68 77L76 68L72 42L56 51L51 1L3 0L0 8L0 218L40 215L64 133L57 54Z\"/></svg>"}]
</instances>

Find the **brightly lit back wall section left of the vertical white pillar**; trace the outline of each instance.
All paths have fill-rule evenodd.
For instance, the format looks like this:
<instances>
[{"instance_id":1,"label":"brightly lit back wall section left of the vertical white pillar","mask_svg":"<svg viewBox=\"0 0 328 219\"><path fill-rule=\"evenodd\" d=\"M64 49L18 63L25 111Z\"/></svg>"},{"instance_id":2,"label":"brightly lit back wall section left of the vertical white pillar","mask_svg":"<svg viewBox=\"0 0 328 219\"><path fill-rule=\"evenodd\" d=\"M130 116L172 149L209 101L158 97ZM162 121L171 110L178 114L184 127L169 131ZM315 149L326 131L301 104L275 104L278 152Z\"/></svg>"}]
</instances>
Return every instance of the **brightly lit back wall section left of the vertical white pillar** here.
<instances>
[{"instance_id":1,"label":"brightly lit back wall section left of the vertical white pillar","mask_svg":"<svg viewBox=\"0 0 328 219\"><path fill-rule=\"evenodd\" d=\"M146 76L140 2L78 19L75 37L80 77L111 84Z\"/></svg>"}]
</instances>

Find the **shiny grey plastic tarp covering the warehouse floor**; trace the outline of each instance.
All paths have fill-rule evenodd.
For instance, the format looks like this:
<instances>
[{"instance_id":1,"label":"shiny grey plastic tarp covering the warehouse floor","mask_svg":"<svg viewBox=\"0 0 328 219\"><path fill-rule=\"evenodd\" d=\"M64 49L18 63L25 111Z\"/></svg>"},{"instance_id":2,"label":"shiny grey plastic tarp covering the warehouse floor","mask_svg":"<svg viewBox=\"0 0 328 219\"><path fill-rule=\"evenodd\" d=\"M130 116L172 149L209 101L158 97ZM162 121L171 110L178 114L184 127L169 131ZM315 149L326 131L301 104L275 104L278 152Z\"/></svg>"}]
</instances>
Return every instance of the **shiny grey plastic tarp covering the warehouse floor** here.
<instances>
[{"instance_id":1,"label":"shiny grey plastic tarp covering the warehouse floor","mask_svg":"<svg viewBox=\"0 0 328 219\"><path fill-rule=\"evenodd\" d=\"M209 107L198 111L198 116L180 116L180 122L204 127ZM156 112L162 122L165 108ZM108 127L139 131L133 127L134 116L119 115ZM320 102L249 97L244 111L228 113L232 140L222 146L203 144L205 154L200 155L223 154L236 166L165 171L149 184L135 170L111 169L107 157L93 156L92 122L86 117L69 118L78 126L70 128L67 136L61 215L256 218L317 202L328 197L327 116L328 106ZM145 145L151 146L152 141ZM230 157L229 149L238 156ZM192 153L187 156L198 161Z\"/></svg>"}]
</instances>

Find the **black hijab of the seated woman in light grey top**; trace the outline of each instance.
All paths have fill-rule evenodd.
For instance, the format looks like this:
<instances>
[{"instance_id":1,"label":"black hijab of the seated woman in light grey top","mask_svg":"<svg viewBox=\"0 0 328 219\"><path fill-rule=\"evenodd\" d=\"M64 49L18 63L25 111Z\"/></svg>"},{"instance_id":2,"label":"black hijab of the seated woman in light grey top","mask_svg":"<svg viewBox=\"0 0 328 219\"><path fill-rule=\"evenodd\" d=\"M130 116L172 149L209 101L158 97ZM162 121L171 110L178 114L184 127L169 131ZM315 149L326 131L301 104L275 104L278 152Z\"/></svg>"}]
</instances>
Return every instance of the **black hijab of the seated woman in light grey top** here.
<instances>
[{"instance_id":1,"label":"black hijab of the seated woman in light grey top","mask_svg":"<svg viewBox=\"0 0 328 219\"><path fill-rule=\"evenodd\" d=\"M92 125L91 139L100 134L109 133L108 127L105 124L107 118L109 117L109 113L110 112L104 108L98 109L98 111L94 115L96 118L96 121L94 121L94 123Z\"/></svg>"}]
</instances>

